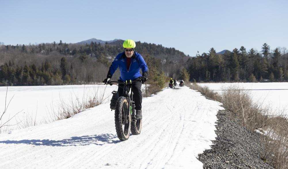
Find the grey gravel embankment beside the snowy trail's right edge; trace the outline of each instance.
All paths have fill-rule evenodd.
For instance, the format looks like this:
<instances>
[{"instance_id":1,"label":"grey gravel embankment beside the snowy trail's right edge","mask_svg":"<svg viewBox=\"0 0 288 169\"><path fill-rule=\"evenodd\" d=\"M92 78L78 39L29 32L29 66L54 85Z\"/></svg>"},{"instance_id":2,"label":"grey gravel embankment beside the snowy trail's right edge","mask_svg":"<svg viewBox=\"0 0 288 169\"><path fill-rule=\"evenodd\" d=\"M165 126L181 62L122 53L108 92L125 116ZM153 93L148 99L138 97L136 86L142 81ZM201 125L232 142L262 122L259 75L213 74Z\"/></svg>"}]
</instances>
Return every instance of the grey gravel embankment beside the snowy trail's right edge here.
<instances>
[{"instance_id":1,"label":"grey gravel embankment beside the snowy trail's right edge","mask_svg":"<svg viewBox=\"0 0 288 169\"><path fill-rule=\"evenodd\" d=\"M260 159L260 136L226 117L217 114L216 140L211 149L199 155L203 168L272 168Z\"/></svg>"}]
</instances>

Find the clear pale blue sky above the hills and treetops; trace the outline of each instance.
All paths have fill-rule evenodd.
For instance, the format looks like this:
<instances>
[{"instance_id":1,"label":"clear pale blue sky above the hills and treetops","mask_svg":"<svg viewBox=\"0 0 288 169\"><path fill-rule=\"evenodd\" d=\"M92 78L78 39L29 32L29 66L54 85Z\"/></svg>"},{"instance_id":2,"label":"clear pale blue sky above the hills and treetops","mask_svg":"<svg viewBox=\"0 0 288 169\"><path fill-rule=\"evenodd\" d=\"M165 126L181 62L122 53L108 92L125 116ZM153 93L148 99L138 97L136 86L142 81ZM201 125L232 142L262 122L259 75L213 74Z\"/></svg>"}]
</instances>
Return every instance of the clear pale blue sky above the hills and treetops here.
<instances>
[{"instance_id":1,"label":"clear pale blue sky above the hills and treetops","mask_svg":"<svg viewBox=\"0 0 288 169\"><path fill-rule=\"evenodd\" d=\"M288 48L288 1L0 0L0 42L133 39L195 56L214 48ZM137 47L136 47L137 48Z\"/></svg>"}]
</instances>

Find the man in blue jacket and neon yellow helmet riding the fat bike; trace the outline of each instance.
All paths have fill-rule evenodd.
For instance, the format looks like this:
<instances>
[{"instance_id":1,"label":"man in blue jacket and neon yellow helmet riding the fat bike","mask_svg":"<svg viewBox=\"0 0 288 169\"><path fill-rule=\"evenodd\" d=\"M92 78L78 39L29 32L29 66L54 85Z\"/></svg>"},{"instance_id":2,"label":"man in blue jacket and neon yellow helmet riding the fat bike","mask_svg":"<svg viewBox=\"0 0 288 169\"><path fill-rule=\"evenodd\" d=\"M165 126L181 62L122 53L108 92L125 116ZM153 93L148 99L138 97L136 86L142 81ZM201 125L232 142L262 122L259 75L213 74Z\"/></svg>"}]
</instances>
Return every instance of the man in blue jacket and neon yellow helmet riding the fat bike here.
<instances>
[{"instance_id":1,"label":"man in blue jacket and neon yellow helmet riding the fat bike","mask_svg":"<svg viewBox=\"0 0 288 169\"><path fill-rule=\"evenodd\" d=\"M141 85L148 79L148 66L141 56L141 54L134 51L136 43L128 39L124 41L123 48L124 52L118 54L112 62L107 78L104 83L108 84L111 81L112 75L115 73L117 68L120 69L120 79L118 81L126 80L140 80L136 83L132 83L132 92L135 102L136 119L142 119L142 92ZM140 74L140 68L142 70L142 76ZM119 84L118 94L123 94L124 84Z\"/></svg>"}]
</instances>

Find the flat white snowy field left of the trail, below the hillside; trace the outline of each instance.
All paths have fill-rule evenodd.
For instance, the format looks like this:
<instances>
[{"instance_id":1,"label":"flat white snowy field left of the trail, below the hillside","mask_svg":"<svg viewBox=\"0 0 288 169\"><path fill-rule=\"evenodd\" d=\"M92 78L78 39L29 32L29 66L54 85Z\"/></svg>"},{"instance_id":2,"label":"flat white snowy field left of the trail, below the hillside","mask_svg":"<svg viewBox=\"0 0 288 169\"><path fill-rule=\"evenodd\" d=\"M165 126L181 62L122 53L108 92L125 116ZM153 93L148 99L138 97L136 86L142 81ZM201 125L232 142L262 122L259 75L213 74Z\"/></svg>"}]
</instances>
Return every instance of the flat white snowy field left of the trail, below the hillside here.
<instances>
[{"instance_id":1,"label":"flat white snowy field left of the trail, below the hillside","mask_svg":"<svg viewBox=\"0 0 288 169\"><path fill-rule=\"evenodd\" d=\"M0 113L2 115L11 100L6 113L1 119L5 123L9 118L16 115L9 121L8 130L19 128L21 121L33 120L36 124L53 121L54 113L58 113L60 103L70 104L73 102L82 102L90 97L102 96L104 94L105 102L112 97L111 92L117 90L117 86L107 85L67 85L67 86L11 86L8 87L7 98L6 87L0 87ZM0 115L0 116L1 116ZM20 122L20 123L19 123ZM1 124L0 123L0 124ZM19 123L19 125L15 125ZM3 131L3 129L2 129Z\"/></svg>"}]
</instances>

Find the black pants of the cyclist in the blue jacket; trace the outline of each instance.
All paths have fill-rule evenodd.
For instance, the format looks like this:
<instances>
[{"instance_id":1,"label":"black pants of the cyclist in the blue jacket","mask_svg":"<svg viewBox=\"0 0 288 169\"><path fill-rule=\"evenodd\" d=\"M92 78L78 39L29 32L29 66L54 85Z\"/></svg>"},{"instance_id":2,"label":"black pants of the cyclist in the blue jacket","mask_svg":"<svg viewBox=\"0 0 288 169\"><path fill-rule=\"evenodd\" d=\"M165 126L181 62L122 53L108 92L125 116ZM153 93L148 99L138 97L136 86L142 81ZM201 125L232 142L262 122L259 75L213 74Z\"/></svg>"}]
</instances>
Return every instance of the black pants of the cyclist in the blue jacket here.
<instances>
[{"instance_id":1,"label":"black pants of the cyclist in the blue jacket","mask_svg":"<svg viewBox=\"0 0 288 169\"><path fill-rule=\"evenodd\" d=\"M137 79L134 79L134 80L138 80L139 78ZM121 80L118 80L118 81L121 81ZM132 92L133 92L133 101L135 102L135 110L141 110L142 109L142 92L141 92L141 81L138 81L136 83L132 83L131 85L131 88L132 88ZM124 84L119 84L119 87L118 87L118 93L119 93L119 96L121 96L124 92ZM127 90L127 93L129 93L130 91L130 88L126 88Z\"/></svg>"}]
</instances>

